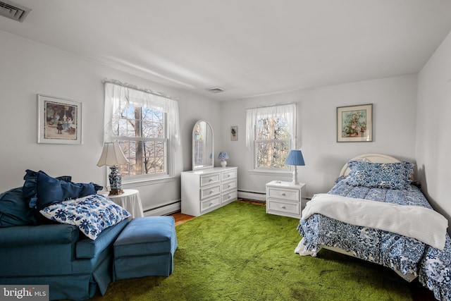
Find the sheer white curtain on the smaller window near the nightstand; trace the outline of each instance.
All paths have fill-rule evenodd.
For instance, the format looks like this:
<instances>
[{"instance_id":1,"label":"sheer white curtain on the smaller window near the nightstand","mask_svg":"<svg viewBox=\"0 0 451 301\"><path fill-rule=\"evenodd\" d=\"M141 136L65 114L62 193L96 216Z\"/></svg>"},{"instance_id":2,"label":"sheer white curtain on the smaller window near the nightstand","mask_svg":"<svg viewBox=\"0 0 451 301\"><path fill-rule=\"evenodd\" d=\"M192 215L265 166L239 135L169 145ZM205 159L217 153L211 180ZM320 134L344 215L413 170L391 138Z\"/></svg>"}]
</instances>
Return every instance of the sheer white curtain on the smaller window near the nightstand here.
<instances>
[{"instance_id":1,"label":"sheer white curtain on the smaller window near the nightstand","mask_svg":"<svg viewBox=\"0 0 451 301\"><path fill-rule=\"evenodd\" d=\"M246 112L246 146L252 148L255 135L255 124L260 118L285 119L288 125L288 133L291 137L292 148L296 147L296 104L282 104L280 106L264 106L261 108L247 109Z\"/></svg>"}]
</instances>

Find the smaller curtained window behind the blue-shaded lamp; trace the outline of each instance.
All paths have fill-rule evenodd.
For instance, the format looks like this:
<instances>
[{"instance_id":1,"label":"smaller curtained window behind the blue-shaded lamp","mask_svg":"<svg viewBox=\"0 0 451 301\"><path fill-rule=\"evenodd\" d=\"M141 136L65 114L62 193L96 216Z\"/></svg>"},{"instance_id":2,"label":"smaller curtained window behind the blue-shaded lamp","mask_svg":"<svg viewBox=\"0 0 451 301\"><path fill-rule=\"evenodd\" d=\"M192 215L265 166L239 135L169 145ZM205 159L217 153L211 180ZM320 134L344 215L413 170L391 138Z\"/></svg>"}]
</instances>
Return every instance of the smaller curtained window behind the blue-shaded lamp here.
<instances>
[{"instance_id":1,"label":"smaller curtained window behind the blue-shaded lamp","mask_svg":"<svg viewBox=\"0 0 451 301\"><path fill-rule=\"evenodd\" d=\"M285 159L295 147L295 104L247 110L247 145L254 171L290 171Z\"/></svg>"}]
</instances>

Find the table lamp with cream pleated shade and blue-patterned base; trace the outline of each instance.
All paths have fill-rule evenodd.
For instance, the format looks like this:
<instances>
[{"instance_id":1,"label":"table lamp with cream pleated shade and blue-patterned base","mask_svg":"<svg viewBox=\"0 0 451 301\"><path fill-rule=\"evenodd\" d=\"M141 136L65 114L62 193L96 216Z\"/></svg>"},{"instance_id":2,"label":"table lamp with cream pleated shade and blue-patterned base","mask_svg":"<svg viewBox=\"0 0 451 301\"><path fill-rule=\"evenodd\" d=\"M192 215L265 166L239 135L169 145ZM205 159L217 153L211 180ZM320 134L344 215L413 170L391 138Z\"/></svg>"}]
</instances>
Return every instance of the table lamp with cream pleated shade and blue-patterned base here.
<instances>
[{"instance_id":1,"label":"table lamp with cream pleated shade and blue-patterned base","mask_svg":"<svg viewBox=\"0 0 451 301\"><path fill-rule=\"evenodd\" d=\"M110 193L109 195L121 195L124 193L122 190L122 177L119 171L119 164L125 164L128 159L125 158L124 153L119 147L118 142L105 142L104 149L101 152L101 156L97 166L109 166L111 173L108 178L110 180Z\"/></svg>"}]
</instances>

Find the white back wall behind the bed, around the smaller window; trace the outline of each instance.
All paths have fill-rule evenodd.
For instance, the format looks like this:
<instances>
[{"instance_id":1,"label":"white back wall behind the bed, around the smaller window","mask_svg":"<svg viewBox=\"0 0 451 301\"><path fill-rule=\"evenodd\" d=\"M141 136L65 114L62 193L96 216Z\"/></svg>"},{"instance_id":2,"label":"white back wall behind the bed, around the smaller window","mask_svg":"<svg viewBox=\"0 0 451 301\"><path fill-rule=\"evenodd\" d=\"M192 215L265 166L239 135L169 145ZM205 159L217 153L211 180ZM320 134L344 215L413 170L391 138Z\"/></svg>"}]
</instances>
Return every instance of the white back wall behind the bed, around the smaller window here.
<instances>
[{"instance_id":1,"label":"white back wall behind the bed, around the smaller window","mask_svg":"<svg viewBox=\"0 0 451 301\"><path fill-rule=\"evenodd\" d=\"M221 104L227 116L221 126L223 150L229 153L228 165L239 166L239 190L264 192L270 180L291 180L249 172L252 159L245 144L246 109L286 103L297 104L297 149L306 162L297 170L299 182L307 184L307 197L327 192L342 166L358 154L415 160L416 75L240 99ZM336 108L355 104L373 104L373 142L336 142ZM233 125L238 126L238 141L230 140Z\"/></svg>"}]
</instances>

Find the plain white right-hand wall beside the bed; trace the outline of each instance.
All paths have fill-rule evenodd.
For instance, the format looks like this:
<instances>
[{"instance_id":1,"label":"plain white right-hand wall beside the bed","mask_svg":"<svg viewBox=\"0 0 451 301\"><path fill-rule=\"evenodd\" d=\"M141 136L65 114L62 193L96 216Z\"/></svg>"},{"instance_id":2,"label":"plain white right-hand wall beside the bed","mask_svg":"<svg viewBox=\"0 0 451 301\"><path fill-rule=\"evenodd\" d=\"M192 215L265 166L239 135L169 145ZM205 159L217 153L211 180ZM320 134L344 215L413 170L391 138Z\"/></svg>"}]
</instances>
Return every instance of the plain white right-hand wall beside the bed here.
<instances>
[{"instance_id":1,"label":"plain white right-hand wall beside the bed","mask_svg":"<svg viewBox=\"0 0 451 301\"><path fill-rule=\"evenodd\" d=\"M451 221L451 32L418 76L416 161L429 202Z\"/></svg>"}]
</instances>

